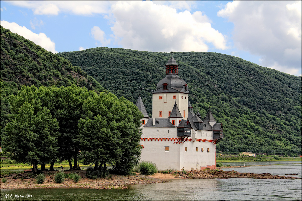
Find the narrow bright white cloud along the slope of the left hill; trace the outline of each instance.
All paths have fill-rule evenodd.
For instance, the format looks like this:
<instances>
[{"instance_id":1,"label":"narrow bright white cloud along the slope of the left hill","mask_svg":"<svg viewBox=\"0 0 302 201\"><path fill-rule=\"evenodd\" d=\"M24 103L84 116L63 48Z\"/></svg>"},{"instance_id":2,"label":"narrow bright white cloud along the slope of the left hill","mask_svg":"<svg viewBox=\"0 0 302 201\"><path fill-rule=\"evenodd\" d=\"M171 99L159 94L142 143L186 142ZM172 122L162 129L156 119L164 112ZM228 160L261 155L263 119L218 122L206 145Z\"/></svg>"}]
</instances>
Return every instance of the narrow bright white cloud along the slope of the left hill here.
<instances>
[{"instance_id":1,"label":"narrow bright white cloud along the slope of the left hill","mask_svg":"<svg viewBox=\"0 0 302 201\"><path fill-rule=\"evenodd\" d=\"M58 53L55 48L55 43L50 40L46 36L45 33L33 33L31 30L27 29L26 27L21 27L15 22L8 22L1 20L1 26L5 29L9 29L13 33L17 33L24 38L31 40L35 44L41 46L42 48L50 51L52 53Z\"/></svg>"}]
</instances>

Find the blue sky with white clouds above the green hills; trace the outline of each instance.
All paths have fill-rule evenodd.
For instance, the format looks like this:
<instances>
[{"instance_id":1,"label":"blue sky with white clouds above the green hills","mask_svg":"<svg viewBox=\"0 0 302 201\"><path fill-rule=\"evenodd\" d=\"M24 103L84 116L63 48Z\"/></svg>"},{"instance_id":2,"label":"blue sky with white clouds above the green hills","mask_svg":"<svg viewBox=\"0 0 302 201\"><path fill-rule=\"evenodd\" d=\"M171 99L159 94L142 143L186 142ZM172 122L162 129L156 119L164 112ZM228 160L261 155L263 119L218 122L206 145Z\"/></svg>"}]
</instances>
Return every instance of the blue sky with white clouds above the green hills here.
<instances>
[{"instance_id":1,"label":"blue sky with white clouds above the green hills","mask_svg":"<svg viewBox=\"0 0 302 201\"><path fill-rule=\"evenodd\" d=\"M52 53L173 47L301 76L301 1L1 1L0 8L2 27Z\"/></svg>"}]
</instances>

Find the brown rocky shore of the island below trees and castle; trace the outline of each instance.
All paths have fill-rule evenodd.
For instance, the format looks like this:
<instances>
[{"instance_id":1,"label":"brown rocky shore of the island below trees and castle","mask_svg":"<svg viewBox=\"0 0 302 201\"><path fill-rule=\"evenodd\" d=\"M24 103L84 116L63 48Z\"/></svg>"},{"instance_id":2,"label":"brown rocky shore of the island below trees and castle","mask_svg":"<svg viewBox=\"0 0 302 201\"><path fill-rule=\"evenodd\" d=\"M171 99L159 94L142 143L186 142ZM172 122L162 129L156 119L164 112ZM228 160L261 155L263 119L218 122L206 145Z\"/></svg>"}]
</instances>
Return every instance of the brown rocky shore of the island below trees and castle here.
<instances>
[{"instance_id":1,"label":"brown rocky shore of the island below trees and castle","mask_svg":"<svg viewBox=\"0 0 302 201\"><path fill-rule=\"evenodd\" d=\"M240 173L237 171L223 171L206 169L201 171L173 171L171 173L156 173L150 176L122 176L112 174L107 179L88 179L85 177L85 170L64 171L65 173L78 172L81 175L81 180L77 183L72 179L66 178L62 184L56 184L53 174L55 171L47 171L46 180L43 184L36 184L36 180L31 178L31 173L10 174L1 176L7 179L6 182L1 182L1 189L16 189L16 188L56 188L56 187L72 187L72 188L96 188L96 189L124 189L133 184L154 184L163 183L171 179L212 179L212 178L255 178L255 179L301 179L299 177L286 177L271 175L269 173L254 174ZM30 177L31 176L31 177Z\"/></svg>"}]
</instances>

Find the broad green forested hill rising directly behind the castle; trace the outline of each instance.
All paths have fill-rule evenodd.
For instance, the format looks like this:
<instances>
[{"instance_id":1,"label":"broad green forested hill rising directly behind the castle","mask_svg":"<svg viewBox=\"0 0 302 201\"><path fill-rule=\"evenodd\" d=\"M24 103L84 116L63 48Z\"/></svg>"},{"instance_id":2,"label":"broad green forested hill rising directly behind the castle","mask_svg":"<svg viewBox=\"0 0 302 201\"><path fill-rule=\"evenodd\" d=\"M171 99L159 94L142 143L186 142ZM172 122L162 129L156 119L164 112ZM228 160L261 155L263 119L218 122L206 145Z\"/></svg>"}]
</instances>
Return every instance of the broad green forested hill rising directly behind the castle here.
<instances>
[{"instance_id":1,"label":"broad green forested hill rising directly behind the castle","mask_svg":"<svg viewBox=\"0 0 302 201\"><path fill-rule=\"evenodd\" d=\"M93 48L59 53L118 97L140 94L149 114L152 94L165 77L170 53ZM223 152L301 153L301 77L212 52L175 52L179 76L190 90L194 112L210 107L223 123Z\"/></svg>"}]
</instances>

